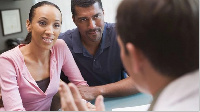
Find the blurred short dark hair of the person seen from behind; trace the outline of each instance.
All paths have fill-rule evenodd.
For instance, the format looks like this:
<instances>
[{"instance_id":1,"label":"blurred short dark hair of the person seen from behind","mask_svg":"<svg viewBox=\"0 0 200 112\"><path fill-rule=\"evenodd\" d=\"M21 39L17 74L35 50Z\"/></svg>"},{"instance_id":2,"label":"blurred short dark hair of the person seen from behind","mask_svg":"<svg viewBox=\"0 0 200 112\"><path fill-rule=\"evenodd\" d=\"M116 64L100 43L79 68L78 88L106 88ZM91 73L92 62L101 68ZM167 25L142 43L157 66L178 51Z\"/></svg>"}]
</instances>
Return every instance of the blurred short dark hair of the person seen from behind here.
<instances>
[{"instance_id":1,"label":"blurred short dark hair of the person seen from behind","mask_svg":"<svg viewBox=\"0 0 200 112\"><path fill-rule=\"evenodd\" d=\"M157 71L179 77L199 68L198 0L124 0L116 19L123 43L133 43Z\"/></svg>"}]
</instances>

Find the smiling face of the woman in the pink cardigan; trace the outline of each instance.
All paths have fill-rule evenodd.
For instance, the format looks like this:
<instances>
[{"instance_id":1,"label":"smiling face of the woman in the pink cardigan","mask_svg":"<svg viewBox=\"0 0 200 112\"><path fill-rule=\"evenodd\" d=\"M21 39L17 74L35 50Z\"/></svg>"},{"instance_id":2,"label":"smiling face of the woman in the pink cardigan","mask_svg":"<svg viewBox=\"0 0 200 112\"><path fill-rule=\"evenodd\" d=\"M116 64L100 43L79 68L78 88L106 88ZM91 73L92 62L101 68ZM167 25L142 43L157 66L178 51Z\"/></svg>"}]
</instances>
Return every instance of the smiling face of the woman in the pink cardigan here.
<instances>
[{"instance_id":1,"label":"smiling face of the woman in the pink cardigan","mask_svg":"<svg viewBox=\"0 0 200 112\"><path fill-rule=\"evenodd\" d=\"M51 5L35 9L32 22L27 20L27 30L32 33L30 44L49 50L55 44L61 30L60 11Z\"/></svg>"}]
</instances>

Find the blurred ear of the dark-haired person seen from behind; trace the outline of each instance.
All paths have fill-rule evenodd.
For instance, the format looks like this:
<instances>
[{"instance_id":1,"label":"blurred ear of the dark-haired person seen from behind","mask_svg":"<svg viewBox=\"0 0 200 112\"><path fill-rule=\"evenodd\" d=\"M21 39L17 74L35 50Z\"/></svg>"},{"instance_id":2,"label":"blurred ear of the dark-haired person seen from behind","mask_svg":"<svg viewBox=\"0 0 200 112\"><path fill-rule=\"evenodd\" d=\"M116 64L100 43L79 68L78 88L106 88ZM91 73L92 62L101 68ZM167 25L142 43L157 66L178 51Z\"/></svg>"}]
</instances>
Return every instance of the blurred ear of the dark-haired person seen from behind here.
<instances>
[{"instance_id":1,"label":"blurred ear of the dark-haired person seen from behind","mask_svg":"<svg viewBox=\"0 0 200 112\"><path fill-rule=\"evenodd\" d=\"M129 56L131 58L131 65L133 68L134 73L141 72L142 68L142 61L143 61L143 54L142 52L137 49L132 43L126 44L126 49L128 50Z\"/></svg>"}]
</instances>

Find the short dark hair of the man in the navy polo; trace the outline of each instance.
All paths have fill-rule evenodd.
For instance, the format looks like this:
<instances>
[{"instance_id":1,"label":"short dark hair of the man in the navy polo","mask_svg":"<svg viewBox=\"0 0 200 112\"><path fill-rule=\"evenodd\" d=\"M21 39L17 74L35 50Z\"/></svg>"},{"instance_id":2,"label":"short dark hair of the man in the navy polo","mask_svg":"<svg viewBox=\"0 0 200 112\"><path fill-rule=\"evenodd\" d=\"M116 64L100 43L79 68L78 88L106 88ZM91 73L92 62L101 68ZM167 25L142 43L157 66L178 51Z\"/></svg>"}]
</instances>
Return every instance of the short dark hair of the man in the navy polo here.
<instances>
[{"instance_id":1,"label":"short dark hair of the man in the navy polo","mask_svg":"<svg viewBox=\"0 0 200 112\"><path fill-rule=\"evenodd\" d=\"M76 11L75 11L75 6L78 7L90 7L95 3L99 4L99 7L103 10L103 6L102 6L102 2L101 0L71 0L71 12L72 15L75 16L76 15Z\"/></svg>"}]
</instances>

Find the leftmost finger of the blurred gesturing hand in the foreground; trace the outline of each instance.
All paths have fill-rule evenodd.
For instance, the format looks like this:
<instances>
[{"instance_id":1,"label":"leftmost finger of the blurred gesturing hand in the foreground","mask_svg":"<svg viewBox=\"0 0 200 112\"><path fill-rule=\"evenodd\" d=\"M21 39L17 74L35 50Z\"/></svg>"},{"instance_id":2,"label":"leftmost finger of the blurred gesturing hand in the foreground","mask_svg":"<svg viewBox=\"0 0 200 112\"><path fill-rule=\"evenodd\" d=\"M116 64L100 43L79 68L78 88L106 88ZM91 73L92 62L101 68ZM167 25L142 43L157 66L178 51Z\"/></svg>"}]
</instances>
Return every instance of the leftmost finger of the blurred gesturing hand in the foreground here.
<instances>
[{"instance_id":1,"label":"leftmost finger of the blurred gesturing hand in the foreground","mask_svg":"<svg viewBox=\"0 0 200 112\"><path fill-rule=\"evenodd\" d=\"M78 111L74 98L71 94L69 87L64 83L60 82L60 97L61 97L61 107L64 111Z\"/></svg>"}]
</instances>

